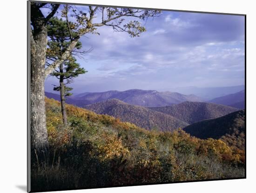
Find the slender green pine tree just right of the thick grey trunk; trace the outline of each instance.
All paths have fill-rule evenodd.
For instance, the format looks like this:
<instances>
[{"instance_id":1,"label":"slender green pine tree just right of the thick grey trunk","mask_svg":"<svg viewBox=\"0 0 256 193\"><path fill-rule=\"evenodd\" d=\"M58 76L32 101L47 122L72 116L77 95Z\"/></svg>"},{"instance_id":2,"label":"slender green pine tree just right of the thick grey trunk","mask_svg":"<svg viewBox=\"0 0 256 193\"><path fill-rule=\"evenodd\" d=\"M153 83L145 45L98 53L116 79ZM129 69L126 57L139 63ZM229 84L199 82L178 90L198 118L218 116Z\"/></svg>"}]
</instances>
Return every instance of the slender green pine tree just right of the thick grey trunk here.
<instances>
[{"instance_id":1,"label":"slender green pine tree just right of the thick grey trunk","mask_svg":"<svg viewBox=\"0 0 256 193\"><path fill-rule=\"evenodd\" d=\"M69 22L69 25L73 23ZM57 60L61 54L67 49L70 44L70 40L76 36L76 33L69 31L67 22L56 17L49 20L48 25L48 36L51 40L48 41L47 45L47 65L50 65L50 61ZM77 50L81 49L81 42L75 47ZM74 50L74 52L77 52ZM83 52L80 52L83 53ZM58 68L55 68L54 72L51 73L59 79L60 85L54 85L54 91L60 91L61 95L61 112L63 124L67 125L67 113L65 108L65 97L72 95L72 87L67 87L75 77L79 74L86 73L84 68L80 67L80 64L76 62L72 52L67 60L64 60Z\"/></svg>"}]
</instances>

